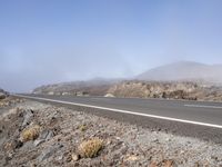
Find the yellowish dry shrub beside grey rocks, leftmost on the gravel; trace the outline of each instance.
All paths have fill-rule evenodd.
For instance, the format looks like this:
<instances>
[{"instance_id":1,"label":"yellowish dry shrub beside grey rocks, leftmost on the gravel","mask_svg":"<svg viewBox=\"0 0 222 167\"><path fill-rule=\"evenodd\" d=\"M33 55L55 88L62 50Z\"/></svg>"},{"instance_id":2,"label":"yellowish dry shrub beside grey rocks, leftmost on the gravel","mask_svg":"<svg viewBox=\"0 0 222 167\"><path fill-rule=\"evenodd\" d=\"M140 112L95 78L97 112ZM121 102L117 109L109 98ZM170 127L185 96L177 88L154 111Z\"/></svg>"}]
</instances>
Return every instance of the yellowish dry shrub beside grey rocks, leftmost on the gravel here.
<instances>
[{"instance_id":1,"label":"yellowish dry shrub beside grey rocks, leftmost on the gravel","mask_svg":"<svg viewBox=\"0 0 222 167\"><path fill-rule=\"evenodd\" d=\"M40 126L34 125L28 129L24 129L21 134L21 140L22 141L29 141L29 140L34 140L39 137L40 134Z\"/></svg>"}]
</instances>

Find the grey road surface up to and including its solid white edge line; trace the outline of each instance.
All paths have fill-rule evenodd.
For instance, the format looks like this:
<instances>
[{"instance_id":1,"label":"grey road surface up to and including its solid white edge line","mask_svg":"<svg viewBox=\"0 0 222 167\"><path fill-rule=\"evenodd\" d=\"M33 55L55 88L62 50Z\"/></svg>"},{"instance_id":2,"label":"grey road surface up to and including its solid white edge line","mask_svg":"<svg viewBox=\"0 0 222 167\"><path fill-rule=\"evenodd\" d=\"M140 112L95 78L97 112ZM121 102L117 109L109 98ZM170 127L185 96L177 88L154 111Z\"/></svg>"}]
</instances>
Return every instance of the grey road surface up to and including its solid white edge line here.
<instances>
[{"instance_id":1,"label":"grey road surface up to and including its solid white edge line","mask_svg":"<svg viewBox=\"0 0 222 167\"><path fill-rule=\"evenodd\" d=\"M222 104L220 102L47 95L18 96L222 129Z\"/></svg>"}]
</instances>

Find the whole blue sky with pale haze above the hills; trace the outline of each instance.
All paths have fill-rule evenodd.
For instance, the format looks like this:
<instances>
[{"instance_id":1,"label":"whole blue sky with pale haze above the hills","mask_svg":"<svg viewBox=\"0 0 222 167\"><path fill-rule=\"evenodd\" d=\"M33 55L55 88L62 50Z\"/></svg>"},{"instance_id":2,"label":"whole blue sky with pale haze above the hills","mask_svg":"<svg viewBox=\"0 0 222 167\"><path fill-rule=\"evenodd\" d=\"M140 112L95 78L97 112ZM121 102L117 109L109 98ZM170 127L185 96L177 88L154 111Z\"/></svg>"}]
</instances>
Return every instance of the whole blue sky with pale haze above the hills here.
<instances>
[{"instance_id":1,"label":"whole blue sky with pale haze above the hills","mask_svg":"<svg viewBox=\"0 0 222 167\"><path fill-rule=\"evenodd\" d=\"M221 0L0 0L0 87L222 63Z\"/></svg>"}]
</instances>

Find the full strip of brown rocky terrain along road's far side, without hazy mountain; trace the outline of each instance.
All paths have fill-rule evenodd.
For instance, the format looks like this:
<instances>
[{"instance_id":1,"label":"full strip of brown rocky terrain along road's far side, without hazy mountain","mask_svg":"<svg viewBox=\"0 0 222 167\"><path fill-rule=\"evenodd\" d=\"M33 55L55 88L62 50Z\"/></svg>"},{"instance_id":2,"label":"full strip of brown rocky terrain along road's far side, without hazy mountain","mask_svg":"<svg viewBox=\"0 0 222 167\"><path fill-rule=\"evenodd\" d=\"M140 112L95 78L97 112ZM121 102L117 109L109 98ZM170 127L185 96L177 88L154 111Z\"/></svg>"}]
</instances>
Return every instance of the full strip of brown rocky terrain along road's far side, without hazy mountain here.
<instances>
[{"instance_id":1,"label":"full strip of brown rocky terrain along road's far side, without hazy mountain","mask_svg":"<svg viewBox=\"0 0 222 167\"><path fill-rule=\"evenodd\" d=\"M52 85L37 88L33 94L222 101L222 87L192 81L128 80L112 85L78 88Z\"/></svg>"}]
</instances>

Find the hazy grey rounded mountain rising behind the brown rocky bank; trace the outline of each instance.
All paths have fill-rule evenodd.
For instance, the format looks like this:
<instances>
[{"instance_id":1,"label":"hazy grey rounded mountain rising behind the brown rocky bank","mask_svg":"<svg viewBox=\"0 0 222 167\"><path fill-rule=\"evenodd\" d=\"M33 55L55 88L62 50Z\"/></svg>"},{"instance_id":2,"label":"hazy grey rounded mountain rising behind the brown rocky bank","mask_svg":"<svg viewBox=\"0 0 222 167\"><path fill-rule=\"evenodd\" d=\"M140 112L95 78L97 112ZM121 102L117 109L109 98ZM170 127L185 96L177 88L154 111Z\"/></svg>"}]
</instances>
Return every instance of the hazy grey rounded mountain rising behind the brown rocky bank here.
<instances>
[{"instance_id":1,"label":"hazy grey rounded mountain rising behind the brown rocky bank","mask_svg":"<svg viewBox=\"0 0 222 167\"><path fill-rule=\"evenodd\" d=\"M193 61L179 61L148 70L137 76L135 79L222 84L222 65L204 65Z\"/></svg>"}]
</instances>

